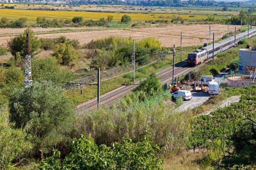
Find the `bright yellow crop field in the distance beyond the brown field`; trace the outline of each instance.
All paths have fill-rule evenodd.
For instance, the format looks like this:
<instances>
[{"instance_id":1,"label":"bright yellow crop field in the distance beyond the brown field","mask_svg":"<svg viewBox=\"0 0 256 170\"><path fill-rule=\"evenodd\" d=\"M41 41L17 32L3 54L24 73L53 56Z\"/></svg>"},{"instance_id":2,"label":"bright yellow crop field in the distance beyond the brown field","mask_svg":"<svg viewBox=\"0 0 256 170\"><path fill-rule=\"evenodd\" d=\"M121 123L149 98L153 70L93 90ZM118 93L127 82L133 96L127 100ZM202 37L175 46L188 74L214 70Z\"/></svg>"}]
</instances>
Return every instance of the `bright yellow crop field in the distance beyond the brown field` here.
<instances>
[{"instance_id":1,"label":"bright yellow crop field in the distance beyond the brown field","mask_svg":"<svg viewBox=\"0 0 256 170\"><path fill-rule=\"evenodd\" d=\"M50 19L72 19L81 16L84 20L99 20L99 18L113 15L113 21L120 21L124 13L118 12L87 12L87 11L43 11L43 10L25 10L25 9L0 9L0 16L11 20L17 20L20 17L28 18L28 23L35 23L37 17L47 17ZM128 13L133 21L145 20L172 20L174 17L181 17L183 20L202 20L207 18L207 14L157 14L157 13ZM215 19L224 19L228 16L216 15Z\"/></svg>"}]
</instances>

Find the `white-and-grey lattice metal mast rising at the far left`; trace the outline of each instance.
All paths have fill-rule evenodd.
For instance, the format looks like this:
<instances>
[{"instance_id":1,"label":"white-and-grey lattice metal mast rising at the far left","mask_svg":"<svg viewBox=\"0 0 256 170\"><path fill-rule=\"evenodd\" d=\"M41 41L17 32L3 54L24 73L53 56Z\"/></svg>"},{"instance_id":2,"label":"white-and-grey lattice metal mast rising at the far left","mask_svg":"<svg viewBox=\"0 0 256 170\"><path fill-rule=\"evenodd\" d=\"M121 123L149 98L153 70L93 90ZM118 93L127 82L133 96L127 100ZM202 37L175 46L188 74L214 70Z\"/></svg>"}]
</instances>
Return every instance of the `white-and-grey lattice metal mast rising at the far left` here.
<instances>
[{"instance_id":1,"label":"white-and-grey lattice metal mast rising at the far left","mask_svg":"<svg viewBox=\"0 0 256 170\"><path fill-rule=\"evenodd\" d=\"M29 29L28 29L29 31ZM29 32L26 33L26 56L25 56L25 78L24 88L28 88L32 82L31 72L31 56L30 56L30 43L29 43Z\"/></svg>"}]
</instances>

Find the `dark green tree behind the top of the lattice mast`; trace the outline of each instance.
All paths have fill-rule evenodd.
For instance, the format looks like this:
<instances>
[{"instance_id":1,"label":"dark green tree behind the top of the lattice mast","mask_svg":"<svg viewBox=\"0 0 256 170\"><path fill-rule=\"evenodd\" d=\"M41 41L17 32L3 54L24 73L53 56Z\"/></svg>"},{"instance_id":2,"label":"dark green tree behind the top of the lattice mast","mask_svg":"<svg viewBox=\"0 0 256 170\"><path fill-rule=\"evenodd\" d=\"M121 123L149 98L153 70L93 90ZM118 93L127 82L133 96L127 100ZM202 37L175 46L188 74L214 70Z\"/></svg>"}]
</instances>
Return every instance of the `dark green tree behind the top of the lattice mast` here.
<instances>
[{"instance_id":1,"label":"dark green tree behind the top of the lattice mast","mask_svg":"<svg viewBox=\"0 0 256 170\"><path fill-rule=\"evenodd\" d=\"M38 40L38 37L34 35L34 32L31 29L27 28L24 31L23 35L20 34L12 38L10 41L8 41L8 48L9 51L11 51L12 56L15 56L17 52L19 52L22 57L24 57L27 54L26 33L28 32L31 56L38 53L41 42L40 40Z\"/></svg>"}]
</instances>

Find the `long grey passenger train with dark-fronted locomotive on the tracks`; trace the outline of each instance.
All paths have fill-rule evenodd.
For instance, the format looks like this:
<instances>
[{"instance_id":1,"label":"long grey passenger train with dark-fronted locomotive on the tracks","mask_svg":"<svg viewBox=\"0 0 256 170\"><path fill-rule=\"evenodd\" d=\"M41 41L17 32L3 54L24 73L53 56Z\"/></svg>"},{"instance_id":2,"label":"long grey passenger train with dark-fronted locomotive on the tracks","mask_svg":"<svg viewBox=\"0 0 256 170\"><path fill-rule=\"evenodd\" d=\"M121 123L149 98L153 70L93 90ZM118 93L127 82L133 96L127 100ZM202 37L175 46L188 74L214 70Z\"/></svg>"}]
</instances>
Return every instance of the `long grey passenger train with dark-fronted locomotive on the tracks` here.
<instances>
[{"instance_id":1,"label":"long grey passenger train with dark-fronted locomotive on the tracks","mask_svg":"<svg viewBox=\"0 0 256 170\"><path fill-rule=\"evenodd\" d=\"M250 29L249 38L255 35L256 35L256 28ZM247 37L248 37L248 31L244 31L240 34L236 34L236 44L239 42L239 40L242 40ZM235 36L232 36L232 37L226 38L225 40L221 40L219 42L214 43L214 56L222 51L232 48L236 44L235 44ZM199 65L211 57L212 57L212 44L189 53L187 57L187 64L192 66Z\"/></svg>"}]
</instances>

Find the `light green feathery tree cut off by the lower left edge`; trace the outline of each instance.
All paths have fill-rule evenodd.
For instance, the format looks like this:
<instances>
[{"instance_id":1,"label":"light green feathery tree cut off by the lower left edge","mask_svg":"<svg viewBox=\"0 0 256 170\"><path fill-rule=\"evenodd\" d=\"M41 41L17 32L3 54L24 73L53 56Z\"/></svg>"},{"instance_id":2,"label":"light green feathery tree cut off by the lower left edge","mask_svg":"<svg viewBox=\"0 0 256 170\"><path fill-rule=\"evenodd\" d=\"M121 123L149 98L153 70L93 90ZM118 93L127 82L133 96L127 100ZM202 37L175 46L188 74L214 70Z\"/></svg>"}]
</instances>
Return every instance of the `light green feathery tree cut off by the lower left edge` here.
<instances>
[{"instance_id":1,"label":"light green feathery tree cut off by the lower left edge","mask_svg":"<svg viewBox=\"0 0 256 170\"><path fill-rule=\"evenodd\" d=\"M31 150L26 129L15 129L9 122L9 113L0 110L0 169L12 169L11 163L17 157Z\"/></svg>"}]
</instances>

